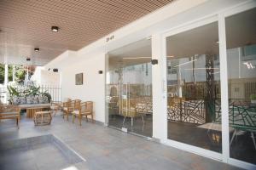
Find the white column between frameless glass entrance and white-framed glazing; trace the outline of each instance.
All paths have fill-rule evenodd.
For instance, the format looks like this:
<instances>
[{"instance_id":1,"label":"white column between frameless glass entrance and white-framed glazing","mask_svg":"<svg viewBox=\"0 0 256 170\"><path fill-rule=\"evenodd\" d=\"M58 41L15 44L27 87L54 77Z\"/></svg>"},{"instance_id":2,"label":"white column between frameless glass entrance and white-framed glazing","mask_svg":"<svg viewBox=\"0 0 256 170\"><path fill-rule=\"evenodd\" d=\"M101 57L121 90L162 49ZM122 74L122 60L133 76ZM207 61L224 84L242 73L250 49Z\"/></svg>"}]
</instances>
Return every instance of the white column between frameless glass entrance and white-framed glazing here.
<instances>
[{"instance_id":1,"label":"white column between frameless glass entrance and white-framed glazing","mask_svg":"<svg viewBox=\"0 0 256 170\"><path fill-rule=\"evenodd\" d=\"M158 65L152 65L153 138L167 139L166 60L162 57L160 34L153 35L151 41L152 59L158 59Z\"/></svg>"}]
</instances>

